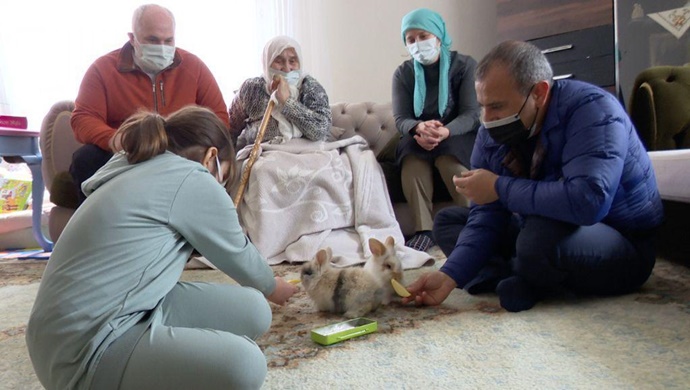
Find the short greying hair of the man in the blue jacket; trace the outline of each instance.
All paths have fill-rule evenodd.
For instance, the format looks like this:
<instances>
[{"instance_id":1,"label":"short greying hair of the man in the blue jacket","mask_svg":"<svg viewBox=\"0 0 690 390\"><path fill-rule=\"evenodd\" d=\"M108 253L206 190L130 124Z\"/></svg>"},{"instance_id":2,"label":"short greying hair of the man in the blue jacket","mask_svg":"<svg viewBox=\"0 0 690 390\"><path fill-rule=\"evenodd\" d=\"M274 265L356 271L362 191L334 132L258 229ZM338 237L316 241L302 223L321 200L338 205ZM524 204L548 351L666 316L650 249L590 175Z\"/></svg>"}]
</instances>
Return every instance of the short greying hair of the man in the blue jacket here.
<instances>
[{"instance_id":1,"label":"short greying hair of the man in the blue jacket","mask_svg":"<svg viewBox=\"0 0 690 390\"><path fill-rule=\"evenodd\" d=\"M528 42L505 41L491 49L477 65L475 80L484 80L494 65L508 68L523 95L539 81L553 82L551 64L538 47Z\"/></svg>"}]
</instances>

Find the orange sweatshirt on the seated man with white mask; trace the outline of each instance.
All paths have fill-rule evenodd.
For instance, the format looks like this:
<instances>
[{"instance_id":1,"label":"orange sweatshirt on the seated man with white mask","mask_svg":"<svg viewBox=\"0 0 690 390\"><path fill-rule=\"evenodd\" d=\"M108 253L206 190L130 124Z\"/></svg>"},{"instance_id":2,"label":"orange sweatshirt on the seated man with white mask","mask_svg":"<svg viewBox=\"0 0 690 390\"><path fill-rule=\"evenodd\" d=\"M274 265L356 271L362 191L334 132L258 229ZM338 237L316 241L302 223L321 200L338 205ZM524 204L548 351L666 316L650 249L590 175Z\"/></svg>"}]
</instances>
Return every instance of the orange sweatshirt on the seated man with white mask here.
<instances>
[{"instance_id":1,"label":"orange sweatshirt on the seated man with white mask","mask_svg":"<svg viewBox=\"0 0 690 390\"><path fill-rule=\"evenodd\" d=\"M134 65L133 53L127 42L98 58L86 71L71 119L77 141L110 150L108 142L117 128L139 109L168 115L197 104L229 124L218 83L199 57L176 49L173 64L154 81Z\"/></svg>"}]
</instances>

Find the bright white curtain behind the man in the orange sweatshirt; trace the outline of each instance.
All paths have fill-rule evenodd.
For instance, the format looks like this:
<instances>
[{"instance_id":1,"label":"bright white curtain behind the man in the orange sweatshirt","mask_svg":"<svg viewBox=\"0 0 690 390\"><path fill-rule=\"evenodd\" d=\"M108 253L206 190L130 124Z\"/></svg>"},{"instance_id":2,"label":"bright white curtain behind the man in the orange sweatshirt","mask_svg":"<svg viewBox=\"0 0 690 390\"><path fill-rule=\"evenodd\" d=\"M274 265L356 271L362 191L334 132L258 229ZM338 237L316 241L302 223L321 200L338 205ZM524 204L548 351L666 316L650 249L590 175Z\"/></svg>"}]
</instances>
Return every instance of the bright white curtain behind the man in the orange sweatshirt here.
<instances>
[{"instance_id":1,"label":"bright white curtain behind the man in the orange sweatshirt","mask_svg":"<svg viewBox=\"0 0 690 390\"><path fill-rule=\"evenodd\" d=\"M155 1L155 0L154 0ZM0 2L0 114L40 127L50 106L73 100L89 65L118 49L141 0ZM243 80L261 74L270 37L289 34L290 2L161 0L175 15L178 47L198 55L216 77L226 104ZM305 50L306 51L306 50Z\"/></svg>"}]
</instances>

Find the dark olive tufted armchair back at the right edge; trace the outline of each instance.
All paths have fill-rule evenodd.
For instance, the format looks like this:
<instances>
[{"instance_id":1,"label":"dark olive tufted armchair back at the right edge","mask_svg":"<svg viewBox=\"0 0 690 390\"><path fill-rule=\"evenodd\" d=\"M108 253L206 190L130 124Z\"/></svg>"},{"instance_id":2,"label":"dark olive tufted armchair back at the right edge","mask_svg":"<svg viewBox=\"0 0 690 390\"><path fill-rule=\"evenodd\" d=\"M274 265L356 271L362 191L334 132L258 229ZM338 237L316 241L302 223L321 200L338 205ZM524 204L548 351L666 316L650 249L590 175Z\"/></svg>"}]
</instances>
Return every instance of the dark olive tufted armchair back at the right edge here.
<instances>
[{"instance_id":1,"label":"dark olive tufted armchair back at the right edge","mask_svg":"<svg viewBox=\"0 0 690 390\"><path fill-rule=\"evenodd\" d=\"M690 148L690 66L642 71L629 111L648 151Z\"/></svg>"}]
</instances>

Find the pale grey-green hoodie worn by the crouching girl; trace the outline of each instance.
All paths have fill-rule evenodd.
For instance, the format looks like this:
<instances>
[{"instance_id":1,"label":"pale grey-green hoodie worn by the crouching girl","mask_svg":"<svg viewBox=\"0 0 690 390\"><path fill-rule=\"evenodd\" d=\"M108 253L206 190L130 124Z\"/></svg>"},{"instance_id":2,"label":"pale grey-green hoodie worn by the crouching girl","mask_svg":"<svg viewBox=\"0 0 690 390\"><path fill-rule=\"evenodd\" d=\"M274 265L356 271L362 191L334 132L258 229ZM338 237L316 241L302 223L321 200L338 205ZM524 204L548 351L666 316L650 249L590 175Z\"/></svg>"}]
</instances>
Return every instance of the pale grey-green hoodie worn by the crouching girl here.
<instances>
[{"instance_id":1,"label":"pale grey-green hoodie worn by the crouching girl","mask_svg":"<svg viewBox=\"0 0 690 390\"><path fill-rule=\"evenodd\" d=\"M168 152L132 165L116 154L82 188L88 198L55 245L26 331L47 389L88 388L115 339L160 322L193 249L241 285L275 289L230 196L198 162Z\"/></svg>"}]
</instances>

